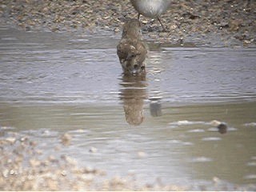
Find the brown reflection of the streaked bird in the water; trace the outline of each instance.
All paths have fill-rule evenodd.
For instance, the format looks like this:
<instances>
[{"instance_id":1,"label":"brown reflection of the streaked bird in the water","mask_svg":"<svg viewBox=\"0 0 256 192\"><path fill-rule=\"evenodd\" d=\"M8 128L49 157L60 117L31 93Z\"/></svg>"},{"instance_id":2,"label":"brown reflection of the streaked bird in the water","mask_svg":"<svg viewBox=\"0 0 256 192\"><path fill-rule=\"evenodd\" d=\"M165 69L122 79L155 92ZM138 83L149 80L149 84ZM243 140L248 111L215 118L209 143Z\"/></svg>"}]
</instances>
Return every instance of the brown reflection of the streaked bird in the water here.
<instances>
[{"instance_id":1,"label":"brown reflection of the streaked bird in the water","mask_svg":"<svg viewBox=\"0 0 256 192\"><path fill-rule=\"evenodd\" d=\"M147 98L146 75L123 75L120 83L120 99L126 122L132 126L139 126L144 121L144 99Z\"/></svg>"}]
</instances>

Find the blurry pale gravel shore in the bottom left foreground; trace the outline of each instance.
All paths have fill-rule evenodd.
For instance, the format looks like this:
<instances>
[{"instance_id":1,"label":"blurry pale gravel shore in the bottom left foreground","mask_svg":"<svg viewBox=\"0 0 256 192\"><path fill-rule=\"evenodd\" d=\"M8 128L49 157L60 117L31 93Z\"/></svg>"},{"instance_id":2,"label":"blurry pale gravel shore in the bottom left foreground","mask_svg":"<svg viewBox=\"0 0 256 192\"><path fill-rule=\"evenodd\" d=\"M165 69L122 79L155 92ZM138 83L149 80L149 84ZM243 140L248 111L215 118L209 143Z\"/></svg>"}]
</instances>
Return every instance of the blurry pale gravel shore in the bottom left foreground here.
<instances>
[{"instance_id":1,"label":"blurry pale gravel shore in the bottom left foreground","mask_svg":"<svg viewBox=\"0 0 256 192\"><path fill-rule=\"evenodd\" d=\"M80 166L61 152L70 139L69 134L57 138L55 153L49 154L30 135L0 127L0 190L186 190L142 185L132 175L109 178L104 170Z\"/></svg>"}]
</instances>

